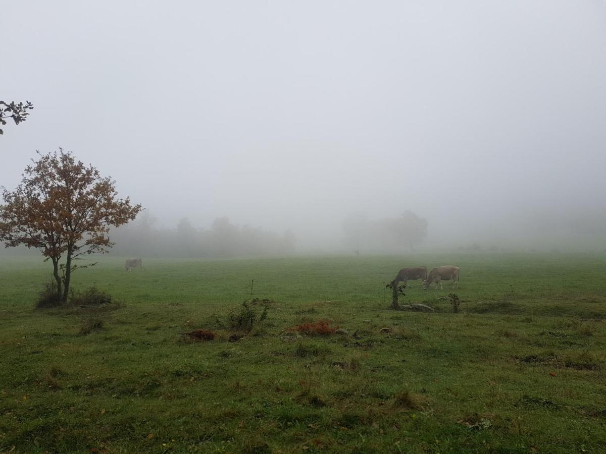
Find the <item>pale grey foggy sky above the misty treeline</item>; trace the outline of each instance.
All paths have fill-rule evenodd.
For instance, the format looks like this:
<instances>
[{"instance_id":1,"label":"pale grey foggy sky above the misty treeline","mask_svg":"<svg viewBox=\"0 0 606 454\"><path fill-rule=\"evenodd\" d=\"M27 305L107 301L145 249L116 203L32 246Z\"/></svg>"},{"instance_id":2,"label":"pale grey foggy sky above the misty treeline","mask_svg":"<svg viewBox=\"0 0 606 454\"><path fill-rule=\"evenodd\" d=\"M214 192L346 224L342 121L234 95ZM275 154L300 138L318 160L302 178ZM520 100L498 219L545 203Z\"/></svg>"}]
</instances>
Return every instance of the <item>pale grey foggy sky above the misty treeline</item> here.
<instances>
[{"instance_id":1,"label":"pale grey foggy sky above the misty treeline","mask_svg":"<svg viewBox=\"0 0 606 454\"><path fill-rule=\"evenodd\" d=\"M415 211L429 244L605 219L602 1L39 0L0 25L0 99L35 105L0 136L8 188L62 146L165 225L307 245L350 212Z\"/></svg>"}]
</instances>

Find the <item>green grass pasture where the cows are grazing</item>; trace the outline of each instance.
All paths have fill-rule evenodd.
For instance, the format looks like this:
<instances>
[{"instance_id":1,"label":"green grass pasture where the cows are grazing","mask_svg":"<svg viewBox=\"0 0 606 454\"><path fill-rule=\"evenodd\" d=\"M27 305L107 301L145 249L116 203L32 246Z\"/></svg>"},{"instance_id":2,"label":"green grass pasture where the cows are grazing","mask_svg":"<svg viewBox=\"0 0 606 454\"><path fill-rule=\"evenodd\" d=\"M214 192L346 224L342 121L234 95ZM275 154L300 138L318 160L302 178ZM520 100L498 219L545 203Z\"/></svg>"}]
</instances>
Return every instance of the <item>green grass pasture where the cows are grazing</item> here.
<instances>
[{"instance_id":1,"label":"green grass pasture where the cows are grazing","mask_svg":"<svg viewBox=\"0 0 606 454\"><path fill-rule=\"evenodd\" d=\"M401 298L436 313L388 309L399 268L447 264L459 314L437 299L450 283ZM50 265L0 259L0 452L606 452L606 255L143 265L75 273L117 309L36 310ZM267 319L229 341L214 315L251 280ZM349 334L287 330L319 319ZM217 337L182 337L197 328Z\"/></svg>"}]
</instances>

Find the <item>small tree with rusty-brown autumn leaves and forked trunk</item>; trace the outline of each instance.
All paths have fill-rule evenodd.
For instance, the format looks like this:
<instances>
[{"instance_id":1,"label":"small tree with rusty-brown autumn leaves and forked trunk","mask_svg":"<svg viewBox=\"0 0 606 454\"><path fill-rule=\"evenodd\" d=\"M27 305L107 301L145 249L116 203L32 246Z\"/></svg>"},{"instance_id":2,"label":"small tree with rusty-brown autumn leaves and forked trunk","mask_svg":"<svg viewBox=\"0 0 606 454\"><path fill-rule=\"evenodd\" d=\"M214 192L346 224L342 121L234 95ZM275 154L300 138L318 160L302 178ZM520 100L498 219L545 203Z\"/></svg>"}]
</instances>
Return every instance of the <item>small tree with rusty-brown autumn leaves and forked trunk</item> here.
<instances>
[{"instance_id":1,"label":"small tree with rusty-brown autumn leaves and forked trunk","mask_svg":"<svg viewBox=\"0 0 606 454\"><path fill-rule=\"evenodd\" d=\"M107 252L113 245L110 227L135 219L141 205L118 199L115 182L71 152L38 154L15 191L2 187L0 241L7 248L41 249L44 261L53 263L57 292L67 301L72 272L90 266L78 260Z\"/></svg>"}]
</instances>

